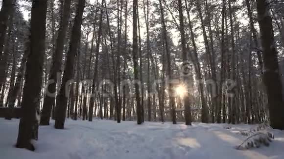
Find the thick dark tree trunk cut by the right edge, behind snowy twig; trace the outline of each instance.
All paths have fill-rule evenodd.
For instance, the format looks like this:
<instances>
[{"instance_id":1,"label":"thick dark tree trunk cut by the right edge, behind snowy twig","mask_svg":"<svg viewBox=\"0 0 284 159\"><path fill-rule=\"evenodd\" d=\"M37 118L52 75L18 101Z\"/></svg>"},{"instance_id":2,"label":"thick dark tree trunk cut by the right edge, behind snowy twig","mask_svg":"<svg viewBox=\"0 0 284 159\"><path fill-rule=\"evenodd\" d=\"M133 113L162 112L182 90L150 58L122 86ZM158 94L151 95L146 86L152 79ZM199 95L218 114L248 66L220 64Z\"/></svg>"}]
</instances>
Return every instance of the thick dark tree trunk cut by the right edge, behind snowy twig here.
<instances>
[{"instance_id":1,"label":"thick dark tree trunk cut by the right edge, behind snowy twig","mask_svg":"<svg viewBox=\"0 0 284 159\"><path fill-rule=\"evenodd\" d=\"M270 125L274 129L284 130L282 82L279 75L279 64L268 1L257 0L257 11L260 24L261 45L263 48L263 78L268 96Z\"/></svg>"}]
</instances>

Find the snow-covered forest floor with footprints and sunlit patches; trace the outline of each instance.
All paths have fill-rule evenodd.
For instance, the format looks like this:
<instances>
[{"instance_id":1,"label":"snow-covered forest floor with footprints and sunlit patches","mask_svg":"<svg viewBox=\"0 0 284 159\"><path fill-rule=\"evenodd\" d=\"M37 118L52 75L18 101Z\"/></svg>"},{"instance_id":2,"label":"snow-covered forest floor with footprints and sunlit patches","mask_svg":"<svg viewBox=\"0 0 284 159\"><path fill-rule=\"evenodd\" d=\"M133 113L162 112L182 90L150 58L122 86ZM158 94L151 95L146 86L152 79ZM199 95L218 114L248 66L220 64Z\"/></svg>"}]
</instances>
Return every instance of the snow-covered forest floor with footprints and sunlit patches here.
<instances>
[{"instance_id":1,"label":"snow-covered forest floor with footprints and sunlit patches","mask_svg":"<svg viewBox=\"0 0 284 159\"><path fill-rule=\"evenodd\" d=\"M30 152L13 147L18 124L0 119L0 159L284 159L284 131L271 130L269 147L235 149L245 139L239 131L256 125L67 120L65 130L56 130L52 121L40 126Z\"/></svg>"}]
</instances>

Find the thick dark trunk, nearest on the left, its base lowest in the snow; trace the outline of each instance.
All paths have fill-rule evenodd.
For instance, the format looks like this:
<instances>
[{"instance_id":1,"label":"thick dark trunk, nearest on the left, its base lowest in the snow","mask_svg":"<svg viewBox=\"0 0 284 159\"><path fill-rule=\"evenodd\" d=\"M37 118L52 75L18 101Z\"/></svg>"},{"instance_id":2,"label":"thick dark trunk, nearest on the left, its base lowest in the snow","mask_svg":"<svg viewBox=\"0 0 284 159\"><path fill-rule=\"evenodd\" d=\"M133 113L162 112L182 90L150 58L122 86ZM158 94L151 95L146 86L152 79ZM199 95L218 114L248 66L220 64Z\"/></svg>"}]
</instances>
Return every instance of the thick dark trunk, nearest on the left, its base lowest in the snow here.
<instances>
[{"instance_id":1,"label":"thick dark trunk, nearest on the left, its base lowest in the snow","mask_svg":"<svg viewBox=\"0 0 284 159\"><path fill-rule=\"evenodd\" d=\"M35 150L32 139L38 139L40 92L45 54L47 0L33 0L31 9L30 54L26 63L22 118L16 147Z\"/></svg>"}]
</instances>

